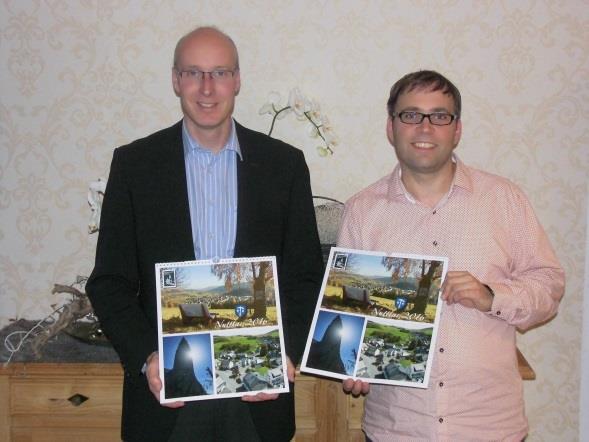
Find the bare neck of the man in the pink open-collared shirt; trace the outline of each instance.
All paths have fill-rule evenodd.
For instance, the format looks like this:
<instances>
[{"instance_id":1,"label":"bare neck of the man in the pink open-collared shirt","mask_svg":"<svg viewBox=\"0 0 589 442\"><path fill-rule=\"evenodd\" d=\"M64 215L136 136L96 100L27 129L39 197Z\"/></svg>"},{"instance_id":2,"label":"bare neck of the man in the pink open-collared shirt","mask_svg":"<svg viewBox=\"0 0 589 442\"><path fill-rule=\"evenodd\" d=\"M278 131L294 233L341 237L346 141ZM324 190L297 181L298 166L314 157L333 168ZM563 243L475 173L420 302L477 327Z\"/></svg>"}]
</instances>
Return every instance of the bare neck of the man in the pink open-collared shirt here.
<instances>
[{"instance_id":1,"label":"bare neck of the man in the pink open-collared shirt","mask_svg":"<svg viewBox=\"0 0 589 442\"><path fill-rule=\"evenodd\" d=\"M401 166L401 181L417 201L428 207L435 207L449 192L455 171L454 162L437 173L415 173Z\"/></svg>"}]
</instances>

